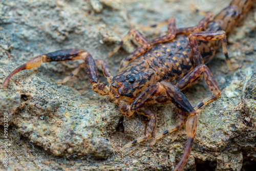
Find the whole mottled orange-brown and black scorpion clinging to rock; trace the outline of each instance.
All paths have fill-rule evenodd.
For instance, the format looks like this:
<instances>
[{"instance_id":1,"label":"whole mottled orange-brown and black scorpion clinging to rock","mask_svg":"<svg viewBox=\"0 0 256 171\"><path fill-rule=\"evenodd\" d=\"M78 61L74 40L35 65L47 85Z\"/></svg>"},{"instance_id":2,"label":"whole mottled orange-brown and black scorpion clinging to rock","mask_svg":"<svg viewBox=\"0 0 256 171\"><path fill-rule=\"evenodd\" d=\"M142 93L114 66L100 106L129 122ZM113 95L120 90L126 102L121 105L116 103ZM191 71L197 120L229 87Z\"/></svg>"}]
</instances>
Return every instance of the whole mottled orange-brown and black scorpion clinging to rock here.
<instances>
[{"instance_id":1,"label":"whole mottled orange-brown and black scorpion clinging to rock","mask_svg":"<svg viewBox=\"0 0 256 171\"><path fill-rule=\"evenodd\" d=\"M216 50L222 47L228 69L238 68L237 66L232 67L229 60L226 34L253 3L254 0L233 0L228 7L215 16L211 12L205 12L204 17L195 27L176 29L175 18L170 17L148 27L167 25L167 34L151 41L147 40L138 30L130 29L108 57L115 54L130 36L141 47L121 61L119 74L114 77L111 76L106 62L102 59L93 59L88 51L63 49L33 57L12 71L6 77L3 87L7 86L10 78L17 72L39 67L42 62L82 59L83 63L58 83L68 81L81 68L86 68L92 90L101 96L108 95L110 101L119 106L123 115L130 117L137 112L151 119L147 124L146 135L127 143L121 149L147 140L152 136L156 126L156 116L145 108L146 104L172 102L176 105L179 111L179 123L157 135L156 139L172 133L186 124L186 147L182 158L174 168L174 170L182 170L191 152L200 109L221 95L218 83L206 64L214 57ZM106 86L99 80L97 65L101 66L102 72L108 80ZM212 95L193 107L181 91L203 78Z\"/></svg>"}]
</instances>

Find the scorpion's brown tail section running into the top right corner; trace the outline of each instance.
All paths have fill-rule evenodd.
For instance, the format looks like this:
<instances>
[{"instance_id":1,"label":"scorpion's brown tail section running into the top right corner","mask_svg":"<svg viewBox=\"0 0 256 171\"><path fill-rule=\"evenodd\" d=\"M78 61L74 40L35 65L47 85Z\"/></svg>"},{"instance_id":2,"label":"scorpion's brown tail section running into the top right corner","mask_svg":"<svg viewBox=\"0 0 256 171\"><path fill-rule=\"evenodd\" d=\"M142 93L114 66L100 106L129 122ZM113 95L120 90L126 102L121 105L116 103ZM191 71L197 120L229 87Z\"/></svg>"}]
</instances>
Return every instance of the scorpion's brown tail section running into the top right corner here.
<instances>
[{"instance_id":1,"label":"scorpion's brown tail section running into the top right corner","mask_svg":"<svg viewBox=\"0 0 256 171\"><path fill-rule=\"evenodd\" d=\"M254 2L255 0L233 0L228 7L215 16L213 22L218 22L221 29L227 33L236 25L243 14L251 8ZM209 27L211 26L209 25ZM206 30L208 29L211 28Z\"/></svg>"}]
</instances>

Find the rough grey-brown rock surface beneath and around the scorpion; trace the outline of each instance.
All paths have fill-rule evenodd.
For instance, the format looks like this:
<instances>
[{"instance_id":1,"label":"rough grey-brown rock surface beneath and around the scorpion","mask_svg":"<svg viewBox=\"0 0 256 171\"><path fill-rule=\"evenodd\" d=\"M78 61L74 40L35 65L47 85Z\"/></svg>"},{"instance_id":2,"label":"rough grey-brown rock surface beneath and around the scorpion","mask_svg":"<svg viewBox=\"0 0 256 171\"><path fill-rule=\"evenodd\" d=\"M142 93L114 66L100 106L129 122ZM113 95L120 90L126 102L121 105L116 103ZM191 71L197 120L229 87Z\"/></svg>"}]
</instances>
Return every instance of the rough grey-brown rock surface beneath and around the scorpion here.
<instances>
[{"instance_id":1,"label":"rough grey-brown rock surface beneath and around the scorpion","mask_svg":"<svg viewBox=\"0 0 256 171\"><path fill-rule=\"evenodd\" d=\"M16 67L33 56L59 49L84 48L106 60L112 74L134 43L112 58L106 55L131 28L155 24L170 16L177 27L195 26L202 16L190 7L218 13L228 2L216 1L4 1L0 2L0 84ZM251 9L228 36L231 61L241 65L228 71L224 55L216 54L209 68L222 90L220 98L199 116L193 151L184 170L250 170L256 162L256 8ZM166 28L145 32L148 38ZM148 106L155 112L153 138L120 151L144 135L148 119L123 118L118 107L91 90L83 69L65 84L81 61L43 63L15 75L0 88L0 121L8 113L7 170L171 170L179 162L186 131L167 135L151 146L157 133L176 124L173 104ZM100 72L103 82L103 74ZM204 81L184 91L192 104L210 95ZM1 126L4 133L4 126ZM1 135L2 135L1 134ZM4 141L4 136L0 137ZM254 167L253 167L254 166Z\"/></svg>"}]
</instances>

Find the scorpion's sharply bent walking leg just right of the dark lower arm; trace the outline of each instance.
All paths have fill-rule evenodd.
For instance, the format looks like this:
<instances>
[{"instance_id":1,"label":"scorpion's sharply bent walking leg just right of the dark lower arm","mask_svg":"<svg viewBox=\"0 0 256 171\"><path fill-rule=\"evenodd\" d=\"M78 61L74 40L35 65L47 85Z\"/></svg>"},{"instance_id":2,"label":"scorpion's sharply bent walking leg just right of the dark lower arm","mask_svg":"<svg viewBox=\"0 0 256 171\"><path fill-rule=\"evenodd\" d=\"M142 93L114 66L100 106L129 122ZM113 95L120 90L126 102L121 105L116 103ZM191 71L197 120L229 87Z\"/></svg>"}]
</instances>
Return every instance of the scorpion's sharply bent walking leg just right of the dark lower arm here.
<instances>
[{"instance_id":1,"label":"scorpion's sharply bent walking leg just right of the dark lower arm","mask_svg":"<svg viewBox=\"0 0 256 171\"><path fill-rule=\"evenodd\" d=\"M215 80L214 76L210 72L209 68L205 65L200 65L196 67L194 70L190 71L185 77L183 77L177 84L176 87L180 90L191 86L194 84L195 81L200 79L201 74L204 73L204 79L209 87L210 91L213 93L211 96L205 98L200 102L198 105L195 106L195 110L202 108L205 104L217 99L221 95L221 90L218 86L217 81Z\"/></svg>"}]
</instances>

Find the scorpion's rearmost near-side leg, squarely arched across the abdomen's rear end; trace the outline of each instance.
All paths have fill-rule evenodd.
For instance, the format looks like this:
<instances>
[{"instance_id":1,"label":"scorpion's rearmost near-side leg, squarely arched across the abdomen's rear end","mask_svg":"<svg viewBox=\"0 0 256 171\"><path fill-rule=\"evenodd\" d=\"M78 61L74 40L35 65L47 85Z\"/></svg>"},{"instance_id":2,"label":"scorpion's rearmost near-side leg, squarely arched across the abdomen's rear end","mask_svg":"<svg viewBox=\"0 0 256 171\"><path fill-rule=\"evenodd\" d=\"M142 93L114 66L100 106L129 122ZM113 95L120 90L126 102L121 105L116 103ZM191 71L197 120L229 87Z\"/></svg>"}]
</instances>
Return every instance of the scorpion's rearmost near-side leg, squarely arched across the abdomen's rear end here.
<instances>
[{"instance_id":1,"label":"scorpion's rearmost near-side leg, squarely arched across the abdomen's rear end","mask_svg":"<svg viewBox=\"0 0 256 171\"><path fill-rule=\"evenodd\" d=\"M201 65L203 63L203 59L199 53L198 44L196 38L201 40L219 40L222 39L222 51L225 55L227 67L229 70L235 70L239 66L232 67L229 57L228 57L228 50L227 50L227 39L225 31L201 31L201 32L194 32L188 36L189 46L191 49L191 53L193 55L194 65L195 67Z\"/></svg>"}]
</instances>

